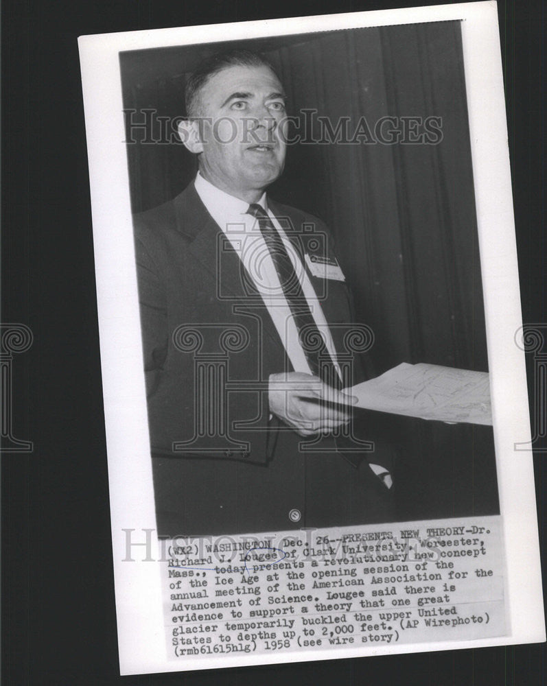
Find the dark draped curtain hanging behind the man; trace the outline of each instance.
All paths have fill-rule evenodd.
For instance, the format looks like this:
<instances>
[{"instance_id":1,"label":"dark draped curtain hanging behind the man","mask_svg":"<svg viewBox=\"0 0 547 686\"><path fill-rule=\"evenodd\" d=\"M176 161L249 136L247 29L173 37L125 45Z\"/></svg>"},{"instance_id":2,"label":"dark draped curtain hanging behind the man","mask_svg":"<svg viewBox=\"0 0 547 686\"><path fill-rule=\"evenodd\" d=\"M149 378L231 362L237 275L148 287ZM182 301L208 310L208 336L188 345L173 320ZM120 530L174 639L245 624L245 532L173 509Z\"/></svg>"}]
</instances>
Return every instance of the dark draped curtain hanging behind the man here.
<instances>
[{"instance_id":1,"label":"dark draped curtain hanging behind the man","mask_svg":"<svg viewBox=\"0 0 547 686\"><path fill-rule=\"evenodd\" d=\"M465 75L458 22L351 29L121 54L134 211L176 196L194 177L182 145L156 144L158 117L185 115L187 75L219 49L261 51L289 113L316 108L336 123L441 117L436 145L290 145L270 195L331 227L358 320L375 333L380 373L399 362L487 370ZM154 120L145 132L144 110ZM165 119L164 121L167 121ZM147 139L148 137L148 139ZM164 136L165 138L165 136ZM148 142L147 142L148 140ZM403 436L401 519L498 512L489 427L393 419Z\"/></svg>"}]
</instances>

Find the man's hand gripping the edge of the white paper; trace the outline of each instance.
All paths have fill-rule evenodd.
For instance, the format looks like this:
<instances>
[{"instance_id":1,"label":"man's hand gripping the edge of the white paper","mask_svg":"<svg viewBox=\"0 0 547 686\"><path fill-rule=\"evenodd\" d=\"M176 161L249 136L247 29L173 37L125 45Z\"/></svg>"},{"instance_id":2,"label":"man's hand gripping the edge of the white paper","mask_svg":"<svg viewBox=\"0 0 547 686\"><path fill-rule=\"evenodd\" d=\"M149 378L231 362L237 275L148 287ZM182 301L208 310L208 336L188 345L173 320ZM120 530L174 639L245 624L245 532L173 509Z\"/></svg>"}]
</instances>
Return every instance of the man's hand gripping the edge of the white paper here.
<instances>
[{"instance_id":1,"label":"man's hand gripping the edge of the white paper","mask_svg":"<svg viewBox=\"0 0 547 686\"><path fill-rule=\"evenodd\" d=\"M318 377L301 372L270 374L268 400L270 412L300 436L330 434L347 424L351 418L348 406L357 402Z\"/></svg>"}]
</instances>

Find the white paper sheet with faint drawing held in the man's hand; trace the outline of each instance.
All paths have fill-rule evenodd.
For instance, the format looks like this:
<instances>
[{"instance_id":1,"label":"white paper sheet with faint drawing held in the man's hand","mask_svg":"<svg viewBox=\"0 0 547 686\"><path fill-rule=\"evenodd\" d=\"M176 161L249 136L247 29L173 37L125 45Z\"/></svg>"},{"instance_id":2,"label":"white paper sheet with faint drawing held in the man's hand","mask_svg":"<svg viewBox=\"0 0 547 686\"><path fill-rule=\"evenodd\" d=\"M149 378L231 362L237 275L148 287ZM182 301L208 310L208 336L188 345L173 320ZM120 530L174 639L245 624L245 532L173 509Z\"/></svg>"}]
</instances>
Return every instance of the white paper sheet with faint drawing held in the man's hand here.
<instances>
[{"instance_id":1,"label":"white paper sheet with faint drawing held in the man's hand","mask_svg":"<svg viewBox=\"0 0 547 686\"><path fill-rule=\"evenodd\" d=\"M357 407L443 422L491 424L488 372L402 362L345 390Z\"/></svg>"}]
</instances>

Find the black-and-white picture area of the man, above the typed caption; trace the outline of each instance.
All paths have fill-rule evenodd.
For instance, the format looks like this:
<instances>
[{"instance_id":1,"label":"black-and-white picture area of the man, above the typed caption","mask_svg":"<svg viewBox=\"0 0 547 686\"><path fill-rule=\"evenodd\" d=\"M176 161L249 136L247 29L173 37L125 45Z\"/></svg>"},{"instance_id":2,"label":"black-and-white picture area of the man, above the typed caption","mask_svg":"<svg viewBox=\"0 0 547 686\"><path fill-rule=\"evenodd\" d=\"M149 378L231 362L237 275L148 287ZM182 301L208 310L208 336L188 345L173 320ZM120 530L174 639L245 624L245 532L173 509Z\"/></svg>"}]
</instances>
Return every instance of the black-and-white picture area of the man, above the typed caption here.
<instances>
[{"instance_id":1,"label":"black-and-white picture area of the man, above the typed caption","mask_svg":"<svg viewBox=\"0 0 547 686\"><path fill-rule=\"evenodd\" d=\"M159 535L499 514L489 406L352 390L488 378L461 22L119 63Z\"/></svg>"}]
</instances>

